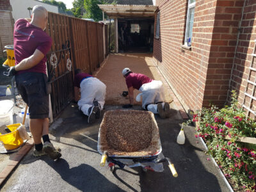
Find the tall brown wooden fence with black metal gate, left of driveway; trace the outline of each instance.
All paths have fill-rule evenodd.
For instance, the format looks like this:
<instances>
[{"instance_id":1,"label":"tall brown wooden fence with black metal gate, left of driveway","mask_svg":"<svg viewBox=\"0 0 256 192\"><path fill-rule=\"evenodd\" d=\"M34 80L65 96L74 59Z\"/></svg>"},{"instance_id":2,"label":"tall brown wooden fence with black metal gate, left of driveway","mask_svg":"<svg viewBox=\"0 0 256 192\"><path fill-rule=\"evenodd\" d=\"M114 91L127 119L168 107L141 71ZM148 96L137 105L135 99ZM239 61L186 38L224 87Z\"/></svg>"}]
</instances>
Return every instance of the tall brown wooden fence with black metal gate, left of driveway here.
<instances>
[{"instance_id":1,"label":"tall brown wooden fence with black metal gate, left of driveway","mask_svg":"<svg viewBox=\"0 0 256 192\"><path fill-rule=\"evenodd\" d=\"M47 54L51 80L52 116L55 118L73 98L74 70L92 72L104 60L103 24L49 13L46 32L52 37Z\"/></svg>"}]
</instances>

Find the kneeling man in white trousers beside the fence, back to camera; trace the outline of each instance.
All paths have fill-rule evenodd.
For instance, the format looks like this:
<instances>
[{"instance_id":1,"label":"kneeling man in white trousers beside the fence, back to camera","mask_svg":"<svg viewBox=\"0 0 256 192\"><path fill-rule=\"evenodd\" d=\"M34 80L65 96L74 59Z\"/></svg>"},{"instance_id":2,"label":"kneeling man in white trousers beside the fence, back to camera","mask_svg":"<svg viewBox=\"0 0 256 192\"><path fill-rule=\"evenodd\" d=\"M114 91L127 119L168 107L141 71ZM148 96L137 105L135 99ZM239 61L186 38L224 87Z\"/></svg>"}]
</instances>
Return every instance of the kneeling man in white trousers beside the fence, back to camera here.
<instances>
[{"instance_id":1,"label":"kneeling man in white trousers beside the fence, back to camera","mask_svg":"<svg viewBox=\"0 0 256 192\"><path fill-rule=\"evenodd\" d=\"M79 100L79 88L81 99ZM105 104L106 85L96 77L83 73L77 68L74 78L75 101L84 115L88 116L88 123L93 124L95 118L100 118Z\"/></svg>"}]
</instances>

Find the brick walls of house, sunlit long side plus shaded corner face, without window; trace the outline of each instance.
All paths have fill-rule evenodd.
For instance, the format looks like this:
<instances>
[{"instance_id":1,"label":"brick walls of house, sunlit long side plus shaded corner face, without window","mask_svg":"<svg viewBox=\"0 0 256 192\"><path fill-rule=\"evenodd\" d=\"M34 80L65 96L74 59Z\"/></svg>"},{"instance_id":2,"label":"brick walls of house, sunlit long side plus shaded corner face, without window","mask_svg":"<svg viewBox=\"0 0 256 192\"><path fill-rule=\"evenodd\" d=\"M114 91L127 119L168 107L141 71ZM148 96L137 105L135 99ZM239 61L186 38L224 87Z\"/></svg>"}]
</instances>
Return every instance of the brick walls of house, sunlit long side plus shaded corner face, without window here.
<instances>
[{"instance_id":1,"label":"brick walls of house, sunlit long side plus shaded corner face, without window","mask_svg":"<svg viewBox=\"0 0 256 192\"><path fill-rule=\"evenodd\" d=\"M158 0L156 3L161 22L160 38L154 39L154 61L184 108L195 111L210 103L223 106L227 101L244 1L196 1L191 50L181 46L188 1ZM252 24L254 5L251 6L247 17ZM237 81L237 77L233 78Z\"/></svg>"}]
</instances>

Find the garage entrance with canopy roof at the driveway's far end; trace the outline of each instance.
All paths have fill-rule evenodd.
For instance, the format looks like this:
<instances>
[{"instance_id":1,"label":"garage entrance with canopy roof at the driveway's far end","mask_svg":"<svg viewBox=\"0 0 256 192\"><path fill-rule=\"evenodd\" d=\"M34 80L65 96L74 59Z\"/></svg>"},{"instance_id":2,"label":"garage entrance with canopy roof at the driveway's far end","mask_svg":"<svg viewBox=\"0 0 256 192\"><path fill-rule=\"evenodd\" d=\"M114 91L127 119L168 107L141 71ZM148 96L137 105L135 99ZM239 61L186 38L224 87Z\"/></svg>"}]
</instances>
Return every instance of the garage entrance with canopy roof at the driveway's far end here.
<instances>
[{"instance_id":1,"label":"garage entrance with canopy roof at the driveway's far end","mask_svg":"<svg viewBox=\"0 0 256 192\"><path fill-rule=\"evenodd\" d=\"M99 8L108 15L109 20L115 20L113 24L115 52L153 52L157 6L99 4ZM113 36L112 32L109 36Z\"/></svg>"}]
</instances>

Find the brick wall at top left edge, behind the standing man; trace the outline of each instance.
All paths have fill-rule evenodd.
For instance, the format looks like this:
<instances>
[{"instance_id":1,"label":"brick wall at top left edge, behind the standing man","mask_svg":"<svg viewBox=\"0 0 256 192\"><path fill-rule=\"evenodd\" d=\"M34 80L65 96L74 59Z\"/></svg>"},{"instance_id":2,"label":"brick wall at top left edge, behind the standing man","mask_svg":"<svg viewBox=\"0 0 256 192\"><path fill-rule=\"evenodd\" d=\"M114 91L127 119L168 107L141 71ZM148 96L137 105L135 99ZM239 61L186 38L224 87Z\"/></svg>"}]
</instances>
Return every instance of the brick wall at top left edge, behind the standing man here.
<instances>
[{"instance_id":1,"label":"brick wall at top left edge, behind the standing man","mask_svg":"<svg viewBox=\"0 0 256 192\"><path fill-rule=\"evenodd\" d=\"M3 57L5 45L13 44L13 25L12 6L9 0L0 1L0 57Z\"/></svg>"}]
</instances>

